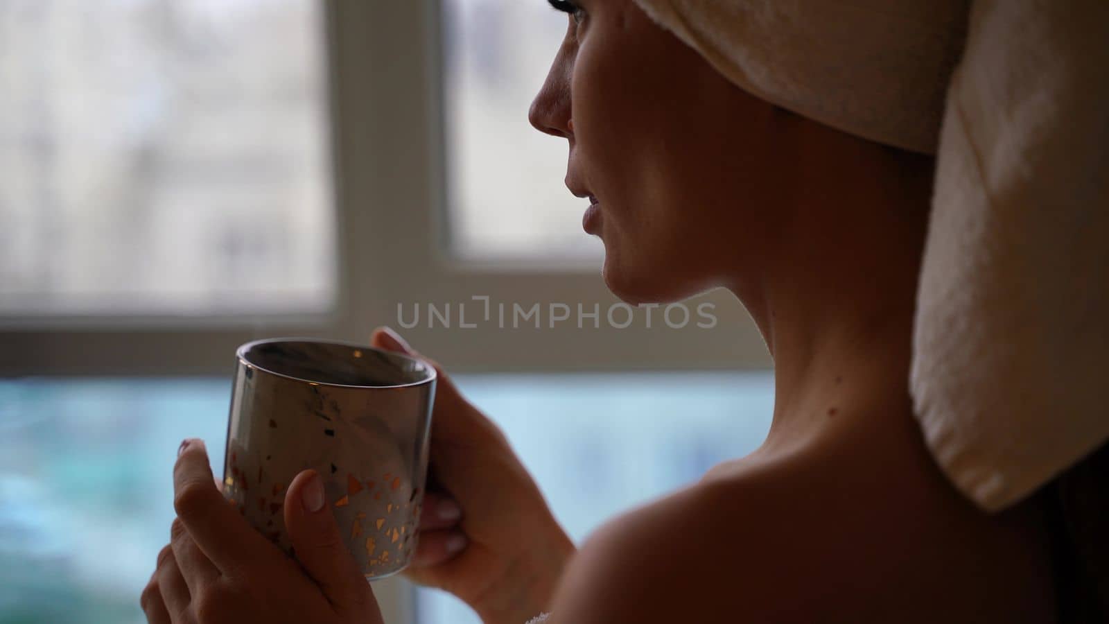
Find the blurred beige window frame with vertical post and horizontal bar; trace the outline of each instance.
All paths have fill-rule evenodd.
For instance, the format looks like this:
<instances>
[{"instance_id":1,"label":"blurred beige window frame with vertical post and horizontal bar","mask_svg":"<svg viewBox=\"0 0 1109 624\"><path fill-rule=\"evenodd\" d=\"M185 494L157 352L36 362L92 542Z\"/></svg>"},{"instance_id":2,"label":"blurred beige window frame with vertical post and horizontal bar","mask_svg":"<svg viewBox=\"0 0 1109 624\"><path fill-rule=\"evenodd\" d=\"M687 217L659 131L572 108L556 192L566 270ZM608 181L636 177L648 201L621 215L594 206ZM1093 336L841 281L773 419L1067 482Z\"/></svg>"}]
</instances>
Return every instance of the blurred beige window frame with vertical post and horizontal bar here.
<instances>
[{"instance_id":1,"label":"blurred beige window frame with vertical post and horizontal bar","mask_svg":"<svg viewBox=\"0 0 1109 624\"><path fill-rule=\"evenodd\" d=\"M538 0L535 0L538 1ZM618 300L597 262L471 262L449 258L439 0L328 0L329 102L338 298L319 316L0 319L0 375L227 374L234 348L262 336L365 341L397 326L398 304L593 304L602 328L405 330L456 371L764 369L765 345L742 306L718 291L718 325L672 330L657 320L606 328ZM557 19L554 16L551 19ZM551 50L553 57L554 50ZM526 111L520 111L526 114ZM554 139L551 139L554 140ZM582 233L582 235L586 235ZM702 300L698 300L702 301Z\"/></svg>"}]
</instances>

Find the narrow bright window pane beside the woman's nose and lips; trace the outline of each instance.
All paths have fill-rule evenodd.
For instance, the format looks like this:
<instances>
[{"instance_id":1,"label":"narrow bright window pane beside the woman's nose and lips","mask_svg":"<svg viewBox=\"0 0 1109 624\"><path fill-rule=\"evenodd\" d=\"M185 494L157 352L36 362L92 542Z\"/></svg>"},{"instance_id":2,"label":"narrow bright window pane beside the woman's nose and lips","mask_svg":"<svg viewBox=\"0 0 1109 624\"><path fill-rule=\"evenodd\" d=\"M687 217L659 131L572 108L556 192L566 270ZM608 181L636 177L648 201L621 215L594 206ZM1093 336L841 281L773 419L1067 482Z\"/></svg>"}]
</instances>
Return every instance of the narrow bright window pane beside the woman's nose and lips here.
<instances>
[{"instance_id":1,"label":"narrow bright window pane beside the woman's nose and lips","mask_svg":"<svg viewBox=\"0 0 1109 624\"><path fill-rule=\"evenodd\" d=\"M566 177L567 142L528 107L566 33L540 0L442 0L448 205L461 256L600 256Z\"/></svg>"}]
</instances>

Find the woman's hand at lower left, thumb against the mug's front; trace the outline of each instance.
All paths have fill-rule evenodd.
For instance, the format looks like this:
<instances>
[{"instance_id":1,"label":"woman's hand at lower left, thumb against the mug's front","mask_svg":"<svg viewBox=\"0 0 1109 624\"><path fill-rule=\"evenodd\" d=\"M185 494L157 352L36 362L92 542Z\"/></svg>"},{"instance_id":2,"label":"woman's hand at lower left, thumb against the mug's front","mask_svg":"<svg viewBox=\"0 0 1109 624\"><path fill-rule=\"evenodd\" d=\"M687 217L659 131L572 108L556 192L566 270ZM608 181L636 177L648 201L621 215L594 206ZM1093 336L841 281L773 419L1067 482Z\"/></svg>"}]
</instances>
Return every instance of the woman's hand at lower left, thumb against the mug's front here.
<instances>
[{"instance_id":1,"label":"woman's hand at lower left, thumb against the mug's front","mask_svg":"<svg viewBox=\"0 0 1109 624\"><path fill-rule=\"evenodd\" d=\"M295 561L223 497L200 440L182 443L173 489L171 543L140 600L150 624L381 624L314 471L285 494Z\"/></svg>"}]
</instances>

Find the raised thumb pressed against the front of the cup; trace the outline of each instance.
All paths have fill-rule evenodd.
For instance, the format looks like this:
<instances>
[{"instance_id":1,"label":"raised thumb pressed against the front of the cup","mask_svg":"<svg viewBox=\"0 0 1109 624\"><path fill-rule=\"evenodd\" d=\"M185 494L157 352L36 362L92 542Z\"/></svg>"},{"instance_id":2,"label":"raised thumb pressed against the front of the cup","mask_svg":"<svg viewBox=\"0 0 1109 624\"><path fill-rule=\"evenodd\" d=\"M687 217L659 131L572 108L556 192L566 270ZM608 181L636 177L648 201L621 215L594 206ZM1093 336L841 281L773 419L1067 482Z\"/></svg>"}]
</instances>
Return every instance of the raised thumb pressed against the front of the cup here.
<instances>
[{"instance_id":1,"label":"raised thumb pressed against the front of the cup","mask_svg":"<svg viewBox=\"0 0 1109 624\"><path fill-rule=\"evenodd\" d=\"M285 526L297 561L336 608L373 600L369 584L347 550L324 481L314 470L293 479L285 493Z\"/></svg>"}]
</instances>

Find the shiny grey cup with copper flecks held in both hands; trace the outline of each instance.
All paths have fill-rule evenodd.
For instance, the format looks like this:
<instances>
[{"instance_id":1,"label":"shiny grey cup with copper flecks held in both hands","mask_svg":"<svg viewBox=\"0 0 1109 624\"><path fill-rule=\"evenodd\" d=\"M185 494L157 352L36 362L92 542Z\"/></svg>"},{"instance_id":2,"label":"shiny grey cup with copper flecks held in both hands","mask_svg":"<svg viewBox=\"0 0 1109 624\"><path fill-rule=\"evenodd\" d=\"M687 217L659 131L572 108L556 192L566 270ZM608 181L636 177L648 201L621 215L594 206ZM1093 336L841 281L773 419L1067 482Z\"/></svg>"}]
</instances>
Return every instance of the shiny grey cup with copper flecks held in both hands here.
<instances>
[{"instance_id":1,"label":"shiny grey cup with copper flecks held in both hands","mask_svg":"<svg viewBox=\"0 0 1109 624\"><path fill-rule=\"evenodd\" d=\"M436 373L427 362L345 342L271 339L236 352L223 493L289 555L285 490L323 477L367 580L416 550Z\"/></svg>"}]
</instances>

